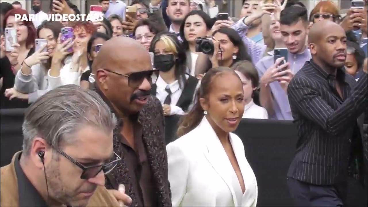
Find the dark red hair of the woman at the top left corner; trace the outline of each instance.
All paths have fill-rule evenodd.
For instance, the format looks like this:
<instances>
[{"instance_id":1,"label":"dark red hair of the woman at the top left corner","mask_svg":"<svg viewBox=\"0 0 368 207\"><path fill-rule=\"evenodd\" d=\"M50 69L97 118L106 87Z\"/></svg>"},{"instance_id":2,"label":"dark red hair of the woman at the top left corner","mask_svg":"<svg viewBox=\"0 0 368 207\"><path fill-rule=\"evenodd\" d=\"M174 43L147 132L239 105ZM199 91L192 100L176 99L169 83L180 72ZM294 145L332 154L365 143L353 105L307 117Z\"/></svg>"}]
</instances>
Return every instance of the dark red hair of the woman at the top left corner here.
<instances>
[{"instance_id":1,"label":"dark red hair of the woman at the top left corner","mask_svg":"<svg viewBox=\"0 0 368 207\"><path fill-rule=\"evenodd\" d=\"M3 27L4 29L6 28L6 21L8 20L8 17L10 16L15 16L15 14L20 14L21 17L23 15L26 15L26 17L28 18L28 12L24 9L21 8L13 8L12 10L8 11L5 16L4 16L4 24ZM28 36L27 39L25 41L26 47L27 49L31 48L31 46L34 44L35 39L37 38L37 34L36 34L36 28L35 26L33 26L33 22L32 21L23 21L24 25L26 25L27 30L28 30Z\"/></svg>"}]
</instances>

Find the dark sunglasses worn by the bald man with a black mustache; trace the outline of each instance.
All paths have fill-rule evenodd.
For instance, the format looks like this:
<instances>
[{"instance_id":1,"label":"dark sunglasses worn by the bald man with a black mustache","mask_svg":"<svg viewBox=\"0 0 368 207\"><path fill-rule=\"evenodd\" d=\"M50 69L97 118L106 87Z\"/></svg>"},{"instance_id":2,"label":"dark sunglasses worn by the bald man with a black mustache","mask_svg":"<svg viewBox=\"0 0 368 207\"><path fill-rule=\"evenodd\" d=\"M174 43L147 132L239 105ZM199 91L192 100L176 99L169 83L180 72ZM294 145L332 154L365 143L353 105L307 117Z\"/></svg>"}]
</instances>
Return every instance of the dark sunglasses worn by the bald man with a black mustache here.
<instances>
[{"instance_id":1,"label":"dark sunglasses worn by the bald man with a black mustache","mask_svg":"<svg viewBox=\"0 0 368 207\"><path fill-rule=\"evenodd\" d=\"M150 84L156 83L157 78L159 77L160 71L159 70L145 70L140 72L131 73L128 75L116 73L114 71L103 69L107 72L117 74L119 76L127 77L128 78L128 86L131 88L138 88L144 81L147 79Z\"/></svg>"}]
</instances>

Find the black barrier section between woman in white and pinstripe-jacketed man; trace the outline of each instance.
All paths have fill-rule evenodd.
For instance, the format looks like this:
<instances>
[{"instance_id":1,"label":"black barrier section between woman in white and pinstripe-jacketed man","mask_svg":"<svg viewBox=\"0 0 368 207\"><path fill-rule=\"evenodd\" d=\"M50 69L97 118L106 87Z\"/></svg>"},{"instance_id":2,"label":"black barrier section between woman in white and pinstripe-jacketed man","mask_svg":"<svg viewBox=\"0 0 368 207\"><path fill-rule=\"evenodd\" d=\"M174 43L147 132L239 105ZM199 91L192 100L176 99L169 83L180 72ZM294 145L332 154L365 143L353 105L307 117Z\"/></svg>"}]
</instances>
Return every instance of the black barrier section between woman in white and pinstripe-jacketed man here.
<instances>
[{"instance_id":1,"label":"black barrier section between woman in white and pinstripe-jacketed man","mask_svg":"<svg viewBox=\"0 0 368 207\"><path fill-rule=\"evenodd\" d=\"M297 141L293 123L242 119L235 134L243 141L245 157L257 179L257 206L293 206L286 185L286 173Z\"/></svg>"}]
</instances>

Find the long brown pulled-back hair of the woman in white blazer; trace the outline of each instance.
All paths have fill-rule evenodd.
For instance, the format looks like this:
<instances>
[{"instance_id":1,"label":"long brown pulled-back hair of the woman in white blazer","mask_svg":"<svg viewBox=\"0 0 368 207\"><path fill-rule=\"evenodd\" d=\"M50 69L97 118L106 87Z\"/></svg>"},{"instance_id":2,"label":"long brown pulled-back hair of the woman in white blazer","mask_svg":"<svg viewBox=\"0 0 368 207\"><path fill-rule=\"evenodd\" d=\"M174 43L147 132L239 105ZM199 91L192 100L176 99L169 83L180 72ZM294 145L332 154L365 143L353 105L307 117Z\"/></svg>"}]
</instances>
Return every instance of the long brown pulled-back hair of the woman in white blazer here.
<instances>
[{"instance_id":1,"label":"long brown pulled-back hair of the woman in white blazer","mask_svg":"<svg viewBox=\"0 0 368 207\"><path fill-rule=\"evenodd\" d=\"M218 74L222 73L233 73L238 77L238 75L235 73L234 70L228 68L228 67L218 67L218 68L212 68L210 69L205 76L202 78L201 86L199 87L197 94L195 95L195 105L193 109L185 115L179 123L177 136L181 137L191 130L193 130L195 127L199 125L201 120L204 117L204 110L201 106L201 103L199 102L200 98L208 98L208 94L210 93L211 89L211 82L213 80L213 77L217 76Z\"/></svg>"}]
</instances>

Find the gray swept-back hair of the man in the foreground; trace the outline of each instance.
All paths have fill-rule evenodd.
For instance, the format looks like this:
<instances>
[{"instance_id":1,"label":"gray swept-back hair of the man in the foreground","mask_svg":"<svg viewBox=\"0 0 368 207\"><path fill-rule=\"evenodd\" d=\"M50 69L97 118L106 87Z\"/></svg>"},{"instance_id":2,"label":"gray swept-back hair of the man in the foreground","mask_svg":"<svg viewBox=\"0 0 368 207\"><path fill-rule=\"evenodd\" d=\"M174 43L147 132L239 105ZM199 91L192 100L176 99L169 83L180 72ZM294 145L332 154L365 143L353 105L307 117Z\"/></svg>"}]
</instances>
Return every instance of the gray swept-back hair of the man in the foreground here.
<instances>
[{"instance_id":1,"label":"gray swept-back hair of the man in the foreground","mask_svg":"<svg viewBox=\"0 0 368 207\"><path fill-rule=\"evenodd\" d=\"M23 154L30 154L35 137L59 149L72 143L73 133L83 126L93 126L110 134L115 125L115 116L96 92L64 85L47 92L26 109L22 124Z\"/></svg>"}]
</instances>

